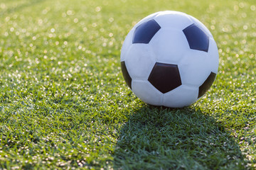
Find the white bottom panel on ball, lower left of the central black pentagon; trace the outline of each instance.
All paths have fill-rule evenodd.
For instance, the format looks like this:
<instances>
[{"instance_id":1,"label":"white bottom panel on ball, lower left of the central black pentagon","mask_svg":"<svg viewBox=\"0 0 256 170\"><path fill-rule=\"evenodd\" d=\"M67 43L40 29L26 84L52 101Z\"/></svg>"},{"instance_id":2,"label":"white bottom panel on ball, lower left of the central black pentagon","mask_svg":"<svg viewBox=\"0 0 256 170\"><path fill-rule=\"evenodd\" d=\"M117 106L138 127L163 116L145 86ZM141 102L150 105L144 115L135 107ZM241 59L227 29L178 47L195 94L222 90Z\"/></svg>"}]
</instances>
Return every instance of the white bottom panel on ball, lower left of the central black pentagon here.
<instances>
[{"instance_id":1,"label":"white bottom panel on ball, lower left of the central black pentagon","mask_svg":"<svg viewBox=\"0 0 256 170\"><path fill-rule=\"evenodd\" d=\"M132 80L132 92L145 103L161 106L163 94L156 90L149 81Z\"/></svg>"}]
</instances>

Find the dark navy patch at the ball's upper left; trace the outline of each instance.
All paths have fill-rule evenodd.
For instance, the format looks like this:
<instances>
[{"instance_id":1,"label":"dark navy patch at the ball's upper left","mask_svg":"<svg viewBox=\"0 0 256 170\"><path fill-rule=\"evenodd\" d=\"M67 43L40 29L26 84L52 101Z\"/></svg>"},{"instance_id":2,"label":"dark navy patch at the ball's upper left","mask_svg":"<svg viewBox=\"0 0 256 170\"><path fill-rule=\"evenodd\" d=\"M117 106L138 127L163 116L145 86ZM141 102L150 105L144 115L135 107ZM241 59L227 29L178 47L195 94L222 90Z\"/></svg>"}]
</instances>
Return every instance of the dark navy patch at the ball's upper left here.
<instances>
[{"instance_id":1,"label":"dark navy patch at the ball's upper left","mask_svg":"<svg viewBox=\"0 0 256 170\"><path fill-rule=\"evenodd\" d=\"M134 31L132 43L148 44L160 28L154 19L142 23Z\"/></svg>"}]
</instances>

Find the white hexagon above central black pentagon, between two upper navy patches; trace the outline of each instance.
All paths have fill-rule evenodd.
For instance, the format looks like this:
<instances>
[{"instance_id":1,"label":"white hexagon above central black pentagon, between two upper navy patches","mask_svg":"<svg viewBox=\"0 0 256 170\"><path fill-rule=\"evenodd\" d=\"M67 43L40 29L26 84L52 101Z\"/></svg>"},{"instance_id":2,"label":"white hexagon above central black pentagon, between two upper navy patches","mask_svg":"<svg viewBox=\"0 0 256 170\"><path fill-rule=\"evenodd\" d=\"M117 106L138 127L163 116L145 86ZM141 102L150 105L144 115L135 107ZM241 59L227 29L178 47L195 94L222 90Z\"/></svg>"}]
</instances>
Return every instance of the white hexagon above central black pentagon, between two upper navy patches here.
<instances>
[{"instance_id":1,"label":"white hexagon above central black pentagon, between two upper navy patches","mask_svg":"<svg viewBox=\"0 0 256 170\"><path fill-rule=\"evenodd\" d=\"M182 30L161 28L149 42L157 62L177 64L190 50Z\"/></svg>"}]
</instances>

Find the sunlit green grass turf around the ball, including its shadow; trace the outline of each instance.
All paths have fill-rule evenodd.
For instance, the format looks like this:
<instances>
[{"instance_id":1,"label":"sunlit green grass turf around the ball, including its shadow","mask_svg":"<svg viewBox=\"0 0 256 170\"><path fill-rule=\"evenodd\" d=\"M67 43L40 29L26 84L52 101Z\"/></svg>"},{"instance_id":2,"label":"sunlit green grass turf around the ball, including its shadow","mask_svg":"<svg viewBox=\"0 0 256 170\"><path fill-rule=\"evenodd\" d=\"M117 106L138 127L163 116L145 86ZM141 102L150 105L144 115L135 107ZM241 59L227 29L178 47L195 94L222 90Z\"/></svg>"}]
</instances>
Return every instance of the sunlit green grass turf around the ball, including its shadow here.
<instances>
[{"instance_id":1,"label":"sunlit green grass turf around the ball, including its shadow","mask_svg":"<svg viewBox=\"0 0 256 170\"><path fill-rule=\"evenodd\" d=\"M122 41L175 10L218 44L197 103L154 108L124 83ZM0 169L255 169L255 1L0 2Z\"/></svg>"}]
</instances>

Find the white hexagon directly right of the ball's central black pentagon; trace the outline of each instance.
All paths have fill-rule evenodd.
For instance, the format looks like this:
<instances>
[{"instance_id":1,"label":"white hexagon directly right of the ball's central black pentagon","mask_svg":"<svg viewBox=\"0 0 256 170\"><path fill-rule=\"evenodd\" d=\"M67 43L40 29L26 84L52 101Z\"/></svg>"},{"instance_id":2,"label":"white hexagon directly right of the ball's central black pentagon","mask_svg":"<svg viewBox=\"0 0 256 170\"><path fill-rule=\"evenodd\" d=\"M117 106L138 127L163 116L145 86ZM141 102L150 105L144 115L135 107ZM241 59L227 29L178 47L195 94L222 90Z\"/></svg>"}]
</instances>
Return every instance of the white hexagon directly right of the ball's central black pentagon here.
<instances>
[{"instance_id":1,"label":"white hexagon directly right of the ball's central black pentagon","mask_svg":"<svg viewBox=\"0 0 256 170\"><path fill-rule=\"evenodd\" d=\"M211 64L208 53L190 50L178 64L182 84L201 86L212 72Z\"/></svg>"}]
</instances>

